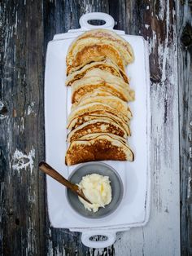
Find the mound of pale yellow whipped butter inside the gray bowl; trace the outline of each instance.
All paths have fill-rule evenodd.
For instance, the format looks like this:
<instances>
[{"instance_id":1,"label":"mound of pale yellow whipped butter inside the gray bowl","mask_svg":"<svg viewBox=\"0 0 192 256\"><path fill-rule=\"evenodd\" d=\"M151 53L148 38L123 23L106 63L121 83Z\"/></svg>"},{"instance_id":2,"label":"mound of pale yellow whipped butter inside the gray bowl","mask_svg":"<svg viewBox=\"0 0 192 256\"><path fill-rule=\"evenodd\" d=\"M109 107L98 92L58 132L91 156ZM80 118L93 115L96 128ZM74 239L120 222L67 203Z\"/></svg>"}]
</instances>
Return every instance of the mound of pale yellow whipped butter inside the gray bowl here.
<instances>
[{"instance_id":1,"label":"mound of pale yellow whipped butter inside the gray bowl","mask_svg":"<svg viewBox=\"0 0 192 256\"><path fill-rule=\"evenodd\" d=\"M78 196L85 209L89 211L97 212L99 207L105 207L111 202L111 185L108 176L88 174L82 178L78 186L84 192L85 197L92 203L89 204Z\"/></svg>"}]
</instances>

